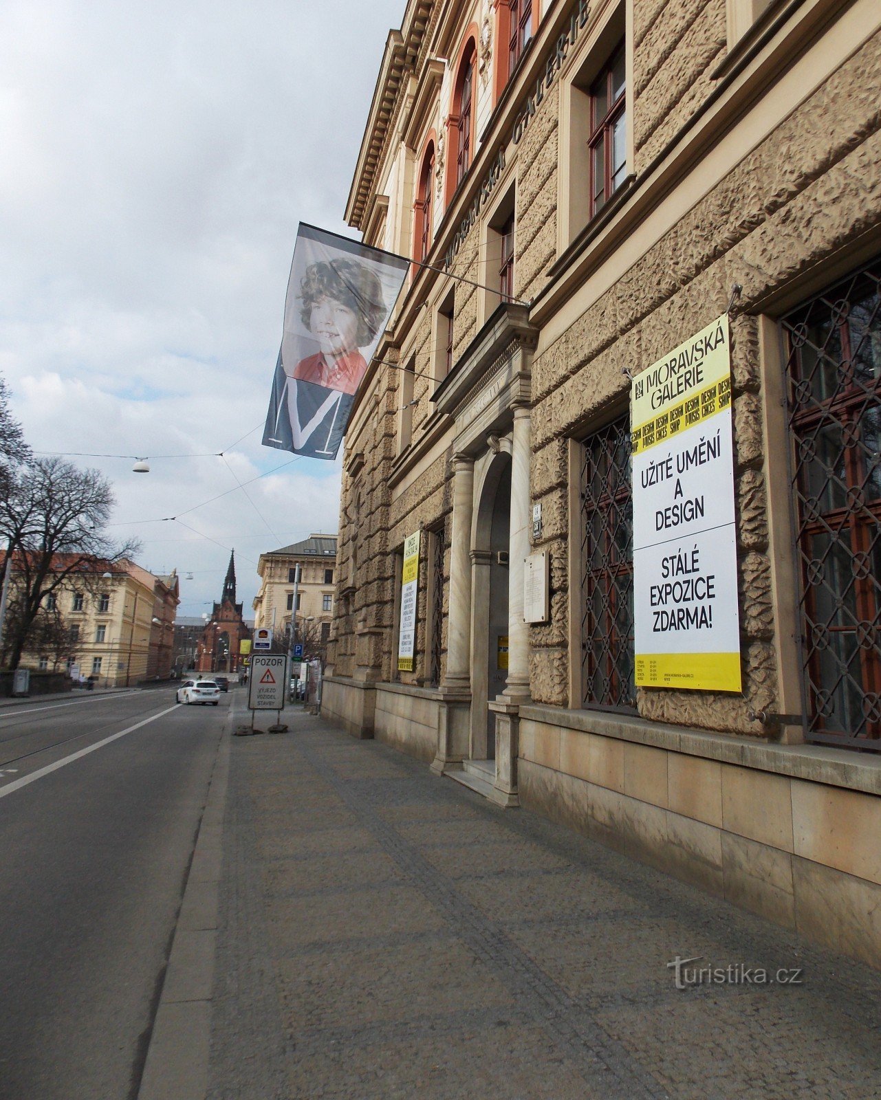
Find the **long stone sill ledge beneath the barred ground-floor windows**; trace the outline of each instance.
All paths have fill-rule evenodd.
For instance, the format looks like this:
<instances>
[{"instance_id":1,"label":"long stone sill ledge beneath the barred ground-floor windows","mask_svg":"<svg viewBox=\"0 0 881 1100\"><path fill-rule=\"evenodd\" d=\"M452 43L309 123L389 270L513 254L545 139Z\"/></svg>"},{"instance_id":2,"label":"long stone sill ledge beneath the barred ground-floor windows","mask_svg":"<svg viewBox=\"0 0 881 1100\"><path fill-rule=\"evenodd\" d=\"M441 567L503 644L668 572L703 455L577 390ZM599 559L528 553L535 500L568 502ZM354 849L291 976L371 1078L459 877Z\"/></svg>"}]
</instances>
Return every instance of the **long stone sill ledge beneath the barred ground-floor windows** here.
<instances>
[{"instance_id":1,"label":"long stone sill ledge beneath the barred ground-floor windows","mask_svg":"<svg viewBox=\"0 0 881 1100\"><path fill-rule=\"evenodd\" d=\"M757 771L805 779L813 783L881 794L881 756L858 755L852 749L819 745L775 745L602 711L563 711L536 703L521 705L520 718L599 734L617 740L651 745L706 760L740 765Z\"/></svg>"}]
</instances>

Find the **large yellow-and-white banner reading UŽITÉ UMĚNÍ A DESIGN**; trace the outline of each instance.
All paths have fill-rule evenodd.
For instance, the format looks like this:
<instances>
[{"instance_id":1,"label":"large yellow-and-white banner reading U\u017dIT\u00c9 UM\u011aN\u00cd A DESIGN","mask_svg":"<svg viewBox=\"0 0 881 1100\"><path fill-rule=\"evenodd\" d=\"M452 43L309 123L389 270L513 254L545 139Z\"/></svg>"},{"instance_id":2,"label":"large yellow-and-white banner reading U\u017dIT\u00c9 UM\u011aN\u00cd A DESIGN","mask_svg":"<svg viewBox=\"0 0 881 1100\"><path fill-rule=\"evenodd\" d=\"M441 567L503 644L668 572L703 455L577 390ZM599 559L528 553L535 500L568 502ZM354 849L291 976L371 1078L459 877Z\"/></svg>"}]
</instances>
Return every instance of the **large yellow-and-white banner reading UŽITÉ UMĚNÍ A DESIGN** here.
<instances>
[{"instance_id":1,"label":"large yellow-and-white banner reading U\u017dIT\u00c9 UM\u011aN\u00cd A DESIGN","mask_svg":"<svg viewBox=\"0 0 881 1100\"><path fill-rule=\"evenodd\" d=\"M727 314L634 378L636 682L741 690Z\"/></svg>"}]
</instances>

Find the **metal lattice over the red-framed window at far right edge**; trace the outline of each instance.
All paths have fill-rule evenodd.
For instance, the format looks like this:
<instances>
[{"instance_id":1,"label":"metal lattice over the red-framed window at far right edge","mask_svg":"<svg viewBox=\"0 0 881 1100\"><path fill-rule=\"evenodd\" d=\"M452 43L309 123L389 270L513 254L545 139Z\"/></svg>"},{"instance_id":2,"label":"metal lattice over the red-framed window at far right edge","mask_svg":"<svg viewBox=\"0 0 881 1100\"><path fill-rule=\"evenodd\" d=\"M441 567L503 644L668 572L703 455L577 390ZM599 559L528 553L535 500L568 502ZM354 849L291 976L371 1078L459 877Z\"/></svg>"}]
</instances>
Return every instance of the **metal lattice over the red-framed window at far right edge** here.
<instances>
[{"instance_id":1,"label":"metal lattice over the red-framed window at far right edge","mask_svg":"<svg viewBox=\"0 0 881 1100\"><path fill-rule=\"evenodd\" d=\"M881 262L783 321L805 733L881 749Z\"/></svg>"}]
</instances>

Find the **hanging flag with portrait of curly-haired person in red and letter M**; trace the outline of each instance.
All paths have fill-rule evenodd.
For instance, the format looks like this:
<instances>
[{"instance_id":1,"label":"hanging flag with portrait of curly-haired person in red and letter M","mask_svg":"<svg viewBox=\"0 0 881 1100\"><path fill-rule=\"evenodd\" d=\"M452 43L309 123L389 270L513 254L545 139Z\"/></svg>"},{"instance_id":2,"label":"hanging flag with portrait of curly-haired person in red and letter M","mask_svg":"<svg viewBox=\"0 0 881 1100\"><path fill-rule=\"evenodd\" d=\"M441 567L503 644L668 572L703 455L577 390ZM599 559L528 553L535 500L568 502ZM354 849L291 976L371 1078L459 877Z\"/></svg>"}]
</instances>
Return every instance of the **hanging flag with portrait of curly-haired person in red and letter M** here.
<instances>
[{"instance_id":1,"label":"hanging flag with portrait of curly-haired person in red and letter M","mask_svg":"<svg viewBox=\"0 0 881 1100\"><path fill-rule=\"evenodd\" d=\"M300 223L264 447L337 457L408 267L403 256Z\"/></svg>"}]
</instances>

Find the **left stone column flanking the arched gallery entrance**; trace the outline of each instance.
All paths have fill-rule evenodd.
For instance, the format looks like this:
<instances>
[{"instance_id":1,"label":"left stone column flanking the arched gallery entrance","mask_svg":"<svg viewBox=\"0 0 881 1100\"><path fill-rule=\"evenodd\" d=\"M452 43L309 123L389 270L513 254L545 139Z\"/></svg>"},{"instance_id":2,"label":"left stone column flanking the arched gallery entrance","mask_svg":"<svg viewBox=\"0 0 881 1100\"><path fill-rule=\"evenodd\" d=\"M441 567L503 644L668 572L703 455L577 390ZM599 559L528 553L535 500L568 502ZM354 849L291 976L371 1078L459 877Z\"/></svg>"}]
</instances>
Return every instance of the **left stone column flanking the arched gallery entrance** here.
<instances>
[{"instance_id":1,"label":"left stone column flanking the arched gallery entrance","mask_svg":"<svg viewBox=\"0 0 881 1100\"><path fill-rule=\"evenodd\" d=\"M450 610L447 619L447 672L443 688L471 686L471 520L474 509L474 459L453 455L453 524L450 546Z\"/></svg>"}]
</instances>

